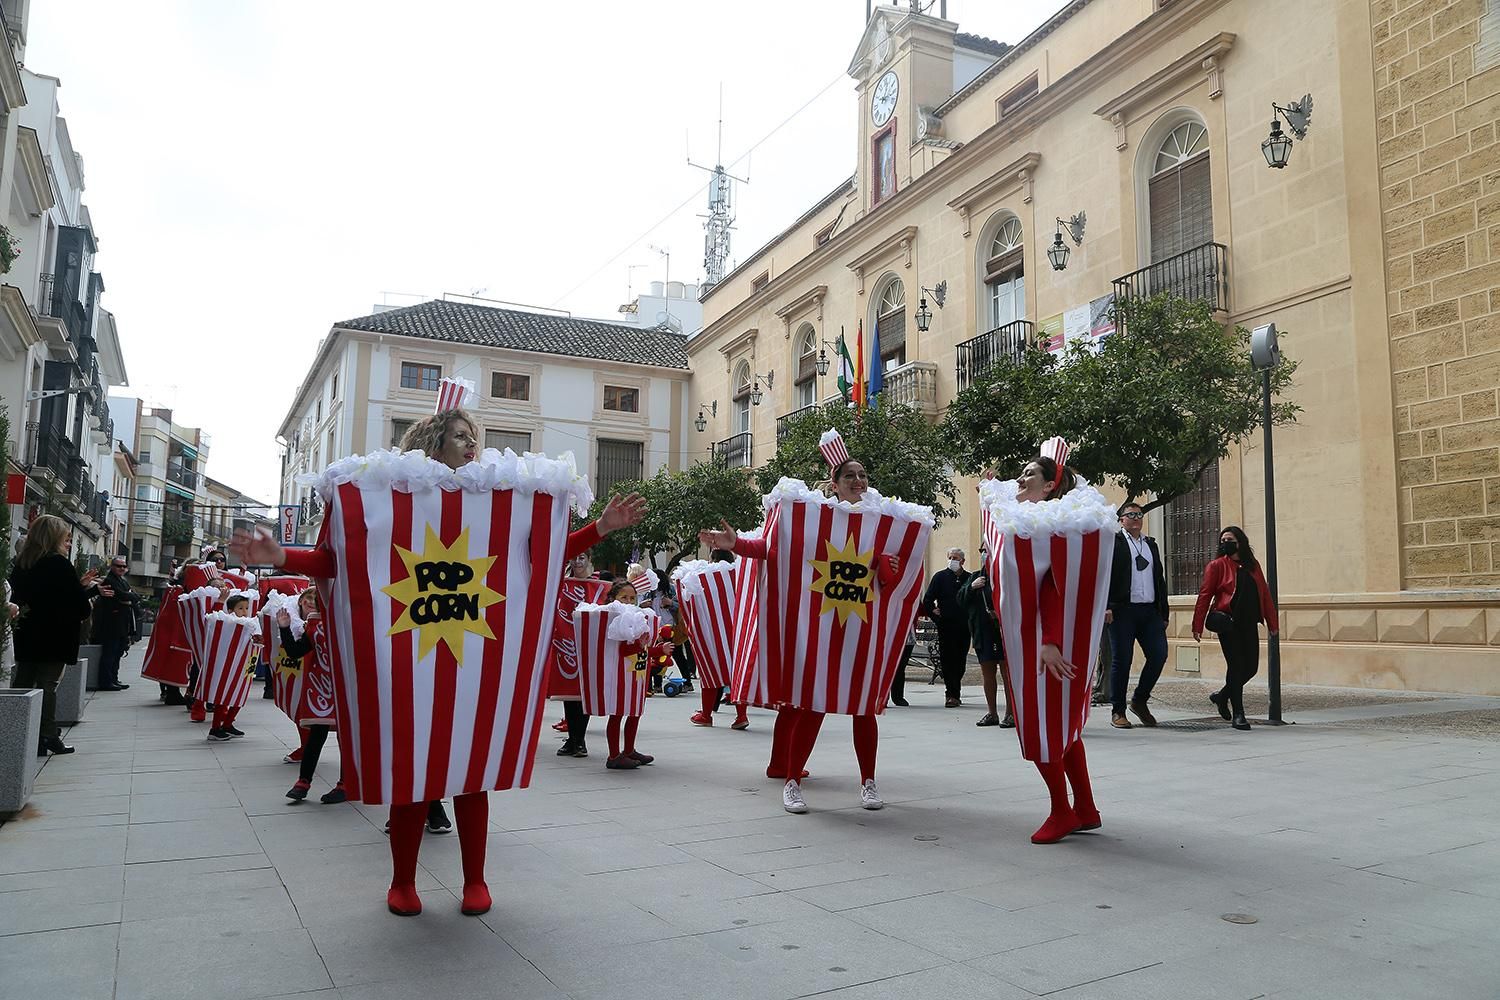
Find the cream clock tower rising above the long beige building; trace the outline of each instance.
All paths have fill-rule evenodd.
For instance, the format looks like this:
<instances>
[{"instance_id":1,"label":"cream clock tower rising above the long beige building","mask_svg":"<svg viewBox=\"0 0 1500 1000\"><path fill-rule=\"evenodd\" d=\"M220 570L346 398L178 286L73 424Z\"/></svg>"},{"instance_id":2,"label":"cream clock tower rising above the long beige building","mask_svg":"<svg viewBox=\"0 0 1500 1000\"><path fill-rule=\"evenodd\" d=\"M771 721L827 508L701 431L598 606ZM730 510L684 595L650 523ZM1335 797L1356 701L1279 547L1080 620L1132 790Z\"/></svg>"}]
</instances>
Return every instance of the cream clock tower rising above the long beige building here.
<instances>
[{"instance_id":1,"label":"cream clock tower rising above the long beige building","mask_svg":"<svg viewBox=\"0 0 1500 1000\"><path fill-rule=\"evenodd\" d=\"M849 63L860 94L856 184L864 211L910 183L912 144L926 138L926 114L952 94L958 25L916 6L874 7Z\"/></svg>"}]
</instances>

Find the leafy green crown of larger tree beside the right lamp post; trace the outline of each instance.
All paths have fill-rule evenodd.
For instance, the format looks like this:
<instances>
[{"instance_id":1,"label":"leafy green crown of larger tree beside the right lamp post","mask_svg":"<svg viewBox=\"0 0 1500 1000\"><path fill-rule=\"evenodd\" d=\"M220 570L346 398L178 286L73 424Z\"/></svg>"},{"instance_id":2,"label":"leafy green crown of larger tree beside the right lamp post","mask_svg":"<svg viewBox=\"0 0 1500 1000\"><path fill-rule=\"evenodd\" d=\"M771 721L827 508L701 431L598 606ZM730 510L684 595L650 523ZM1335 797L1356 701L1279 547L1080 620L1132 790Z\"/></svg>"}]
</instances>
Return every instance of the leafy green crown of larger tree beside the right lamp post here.
<instances>
[{"instance_id":1,"label":"leafy green crown of larger tree beside the right lamp post","mask_svg":"<svg viewBox=\"0 0 1500 1000\"><path fill-rule=\"evenodd\" d=\"M1002 358L948 409L942 430L964 472L1017 471L1036 445L1062 435L1084 478L1113 480L1146 510L1194 489L1203 472L1262 426L1262 373L1250 331L1226 328L1203 301L1174 295L1116 306L1119 333L1096 351L1072 345L1059 358L1036 348ZM1276 399L1296 361L1270 375L1272 424L1300 406Z\"/></svg>"}]
</instances>

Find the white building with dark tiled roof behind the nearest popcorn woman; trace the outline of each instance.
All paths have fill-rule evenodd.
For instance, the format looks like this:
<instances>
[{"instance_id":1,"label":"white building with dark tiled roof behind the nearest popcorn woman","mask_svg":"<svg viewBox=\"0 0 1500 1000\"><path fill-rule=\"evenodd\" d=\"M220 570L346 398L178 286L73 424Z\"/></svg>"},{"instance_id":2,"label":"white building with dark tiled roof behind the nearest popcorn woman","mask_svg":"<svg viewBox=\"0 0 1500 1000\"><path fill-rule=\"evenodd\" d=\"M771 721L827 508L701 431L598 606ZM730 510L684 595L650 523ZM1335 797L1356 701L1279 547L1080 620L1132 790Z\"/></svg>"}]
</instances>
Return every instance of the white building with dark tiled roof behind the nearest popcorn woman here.
<instances>
[{"instance_id":1,"label":"white building with dark tiled roof behind the nearest popcorn woman","mask_svg":"<svg viewBox=\"0 0 1500 1000\"><path fill-rule=\"evenodd\" d=\"M280 502L312 511L297 477L398 444L432 414L447 375L478 385L486 447L572 451L597 493L682 468L696 457L686 343L660 328L446 300L334 324L278 432Z\"/></svg>"}]
</instances>

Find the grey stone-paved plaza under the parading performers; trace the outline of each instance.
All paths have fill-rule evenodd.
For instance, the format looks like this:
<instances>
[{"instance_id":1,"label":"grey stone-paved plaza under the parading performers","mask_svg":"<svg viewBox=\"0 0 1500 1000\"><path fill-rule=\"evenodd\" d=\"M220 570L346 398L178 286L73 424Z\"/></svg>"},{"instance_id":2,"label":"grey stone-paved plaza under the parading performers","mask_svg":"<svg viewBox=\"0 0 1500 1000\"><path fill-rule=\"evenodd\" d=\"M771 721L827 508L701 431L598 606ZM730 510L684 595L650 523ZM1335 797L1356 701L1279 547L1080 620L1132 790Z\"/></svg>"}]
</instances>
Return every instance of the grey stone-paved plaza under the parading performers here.
<instances>
[{"instance_id":1,"label":"grey stone-paved plaza under the parading performers","mask_svg":"<svg viewBox=\"0 0 1500 1000\"><path fill-rule=\"evenodd\" d=\"M764 775L768 712L700 730L657 697L654 766L544 730L534 787L490 796L489 915L459 915L448 834L402 919L384 810L316 802L332 742L292 805L272 702L208 744L126 679L0 826L0 1000L1500 997L1500 699L1288 690L1296 726L1238 733L1162 682L1166 726L1090 720L1104 828L1035 847L1042 783L978 690L908 685L879 813L831 717L807 816Z\"/></svg>"}]
</instances>

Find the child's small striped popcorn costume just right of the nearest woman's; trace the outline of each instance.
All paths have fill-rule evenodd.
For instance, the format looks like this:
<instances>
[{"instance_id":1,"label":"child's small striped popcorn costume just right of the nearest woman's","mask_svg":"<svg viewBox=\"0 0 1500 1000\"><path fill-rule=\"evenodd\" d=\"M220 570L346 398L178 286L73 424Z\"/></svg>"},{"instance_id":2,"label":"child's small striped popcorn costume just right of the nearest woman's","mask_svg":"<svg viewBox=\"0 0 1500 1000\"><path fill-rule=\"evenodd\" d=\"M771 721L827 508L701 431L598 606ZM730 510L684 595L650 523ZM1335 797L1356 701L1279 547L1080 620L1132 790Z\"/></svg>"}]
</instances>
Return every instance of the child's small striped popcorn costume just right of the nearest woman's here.
<instances>
[{"instance_id":1,"label":"child's small striped popcorn costume just right of the nearest woman's","mask_svg":"<svg viewBox=\"0 0 1500 1000\"><path fill-rule=\"evenodd\" d=\"M586 715L645 714L651 660L662 619L634 604L579 604L573 609L579 676Z\"/></svg>"}]
</instances>

